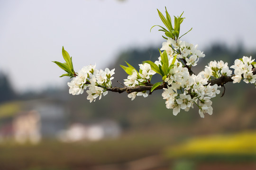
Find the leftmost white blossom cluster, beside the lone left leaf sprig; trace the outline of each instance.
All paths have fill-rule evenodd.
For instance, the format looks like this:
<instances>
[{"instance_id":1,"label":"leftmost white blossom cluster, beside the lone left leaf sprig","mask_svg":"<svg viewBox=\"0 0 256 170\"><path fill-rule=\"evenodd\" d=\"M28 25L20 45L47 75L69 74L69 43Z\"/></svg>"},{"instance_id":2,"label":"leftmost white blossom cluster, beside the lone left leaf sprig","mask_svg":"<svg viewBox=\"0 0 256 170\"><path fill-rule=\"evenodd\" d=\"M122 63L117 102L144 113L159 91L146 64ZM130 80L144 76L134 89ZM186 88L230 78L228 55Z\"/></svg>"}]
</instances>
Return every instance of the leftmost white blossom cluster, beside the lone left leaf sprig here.
<instances>
[{"instance_id":1,"label":"leftmost white blossom cluster, beside the lone left leaf sprig","mask_svg":"<svg viewBox=\"0 0 256 170\"><path fill-rule=\"evenodd\" d=\"M84 90L88 87L89 90L86 91L88 94L87 99L92 102L95 101L97 97L101 99L101 96L105 96L108 91L108 87L112 87L111 77L114 74L114 70L110 71L109 68L105 68L105 71L95 69L96 65L89 65L83 67L71 82L68 82L69 93L73 95L82 94Z\"/></svg>"}]
</instances>

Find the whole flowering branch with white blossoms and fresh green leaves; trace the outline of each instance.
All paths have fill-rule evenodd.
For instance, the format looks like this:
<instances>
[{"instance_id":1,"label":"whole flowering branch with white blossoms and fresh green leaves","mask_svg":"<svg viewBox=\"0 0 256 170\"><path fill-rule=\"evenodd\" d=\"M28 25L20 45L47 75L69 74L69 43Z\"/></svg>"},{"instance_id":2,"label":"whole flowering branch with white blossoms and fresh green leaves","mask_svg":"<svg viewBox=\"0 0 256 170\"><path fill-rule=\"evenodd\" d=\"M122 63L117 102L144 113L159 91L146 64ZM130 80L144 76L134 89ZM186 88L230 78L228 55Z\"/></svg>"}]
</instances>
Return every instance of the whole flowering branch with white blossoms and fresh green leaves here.
<instances>
[{"instance_id":1,"label":"whole flowering branch with white blossoms and fresh green leaves","mask_svg":"<svg viewBox=\"0 0 256 170\"><path fill-rule=\"evenodd\" d=\"M136 70L128 62L126 62L127 66L120 65L128 74L128 77L124 79L124 87L112 87L111 80L114 78L112 76L115 69L98 70L96 65L89 65L76 73L73 69L72 57L63 48L62 54L66 62L54 62L67 72L62 76L72 78L72 81L68 82L69 93L78 95L87 89L87 99L92 102L98 97L100 100L102 95L105 96L108 91L126 92L128 97L134 100L136 96L147 97L154 90L162 89L166 108L172 109L174 115L177 115L180 110L189 111L193 105L196 105L200 116L204 118L205 114L212 114L210 99L220 93L218 88L221 86L224 87L223 96L224 85L228 82L239 83L243 80L247 84L256 85L256 62L251 57L245 56L236 59L234 65L230 67L234 69L234 74L229 69L228 63L220 60L210 61L203 71L195 75L192 67L196 66L199 59L205 57L205 54L197 49L197 45L180 40L191 29L179 36L180 26L184 19L181 17L182 15L174 17L174 25L172 25L167 10L165 11L166 17L158 9L157 11L166 26L166 28L159 26L161 28L159 31L163 31L166 36L163 36L166 42L163 42L162 48L159 50L160 57L155 62L150 60L142 62L139 64L139 70ZM162 81L151 84L151 79L155 74L159 74Z\"/></svg>"}]
</instances>

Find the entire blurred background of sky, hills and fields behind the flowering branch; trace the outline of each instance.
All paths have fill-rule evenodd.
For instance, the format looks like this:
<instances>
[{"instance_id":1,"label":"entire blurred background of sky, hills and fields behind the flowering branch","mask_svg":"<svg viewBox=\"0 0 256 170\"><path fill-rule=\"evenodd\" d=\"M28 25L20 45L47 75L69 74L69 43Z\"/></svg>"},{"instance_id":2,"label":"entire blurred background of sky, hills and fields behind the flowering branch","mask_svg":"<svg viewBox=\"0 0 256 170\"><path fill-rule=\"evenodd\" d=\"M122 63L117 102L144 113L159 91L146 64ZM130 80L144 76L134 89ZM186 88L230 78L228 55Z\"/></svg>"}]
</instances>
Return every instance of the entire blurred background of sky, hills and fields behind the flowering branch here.
<instances>
[{"instance_id":1,"label":"entire blurred background of sky, hills and fields behind the flowering branch","mask_svg":"<svg viewBox=\"0 0 256 170\"><path fill-rule=\"evenodd\" d=\"M211 60L256 58L254 0L0 0L0 170L256 169L254 85L225 85L201 119L196 107L174 116L162 91L90 103L58 77L51 61L64 62L64 46L75 71L115 68L120 86L120 64L159 57L165 39L149 30L165 6L184 11L181 34L193 29L182 40L206 54L195 73Z\"/></svg>"}]
</instances>

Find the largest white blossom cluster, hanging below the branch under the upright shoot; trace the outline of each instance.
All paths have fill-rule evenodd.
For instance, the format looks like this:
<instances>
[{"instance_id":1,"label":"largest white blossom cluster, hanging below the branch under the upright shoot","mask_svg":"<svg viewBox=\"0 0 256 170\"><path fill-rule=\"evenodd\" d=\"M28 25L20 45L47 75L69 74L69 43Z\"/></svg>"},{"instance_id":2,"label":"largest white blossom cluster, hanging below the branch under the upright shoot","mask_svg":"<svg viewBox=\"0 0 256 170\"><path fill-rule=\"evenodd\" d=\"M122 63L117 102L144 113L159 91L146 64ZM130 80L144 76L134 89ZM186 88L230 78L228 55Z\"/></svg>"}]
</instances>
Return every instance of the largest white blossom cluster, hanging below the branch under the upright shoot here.
<instances>
[{"instance_id":1,"label":"largest white blossom cluster, hanging below the branch under the upright shoot","mask_svg":"<svg viewBox=\"0 0 256 170\"><path fill-rule=\"evenodd\" d=\"M167 88L162 93L166 100L166 108L173 109L177 115L180 110L189 111L195 103L199 107L199 114L203 118L205 113L212 114L210 99L219 94L218 85L207 85L207 78L201 75L190 75L188 68L177 61L177 65L165 79Z\"/></svg>"}]
</instances>

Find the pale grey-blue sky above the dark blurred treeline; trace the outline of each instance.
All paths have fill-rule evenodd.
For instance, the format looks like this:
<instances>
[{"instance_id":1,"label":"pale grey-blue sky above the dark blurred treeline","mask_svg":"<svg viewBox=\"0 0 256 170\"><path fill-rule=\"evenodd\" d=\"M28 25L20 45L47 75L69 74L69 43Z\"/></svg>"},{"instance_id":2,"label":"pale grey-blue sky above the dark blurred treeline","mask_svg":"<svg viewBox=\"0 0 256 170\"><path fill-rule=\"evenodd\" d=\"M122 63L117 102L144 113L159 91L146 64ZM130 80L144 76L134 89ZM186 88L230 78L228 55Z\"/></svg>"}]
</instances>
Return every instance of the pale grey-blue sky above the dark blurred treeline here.
<instances>
[{"instance_id":1,"label":"pale grey-blue sky above the dark blurred treeline","mask_svg":"<svg viewBox=\"0 0 256 170\"><path fill-rule=\"evenodd\" d=\"M193 29L182 41L199 50L213 42L256 49L255 0L0 0L0 72L17 93L68 88L51 62L64 62L62 46L76 72L104 69L130 48L161 48L162 32L149 30L163 25L156 9L165 7L171 16L184 11L181 34Z\"/></svg>"}]
</instances>

